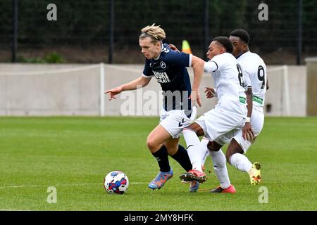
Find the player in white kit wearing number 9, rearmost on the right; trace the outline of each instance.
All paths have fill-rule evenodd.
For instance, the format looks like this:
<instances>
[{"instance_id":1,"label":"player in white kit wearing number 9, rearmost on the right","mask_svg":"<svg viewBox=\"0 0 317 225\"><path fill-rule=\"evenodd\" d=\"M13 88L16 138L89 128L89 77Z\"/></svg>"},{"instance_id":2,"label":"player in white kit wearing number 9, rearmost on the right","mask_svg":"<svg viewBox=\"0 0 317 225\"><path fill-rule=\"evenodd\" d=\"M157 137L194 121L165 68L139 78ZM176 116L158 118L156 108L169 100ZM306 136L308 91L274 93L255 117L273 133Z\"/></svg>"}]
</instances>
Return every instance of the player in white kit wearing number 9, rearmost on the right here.
<instances>
[{"instance_id":1,"label":"player in white kit wearing number 9, rearmost on the right","mask_svg":"<svg viewBox=\"0 0 317 225\"><path fill-rule=\"evenodd\" d=\"M254 131L254 136L256 138L256 136L259 136L264 123L263 105L266 90L268 89L266 64L260 56L249 51L249 34L245 30L234 30L230 33L229 38L234 46L232 55L237 58L237 61L242 66L244 75L247 75L251 81L251 84L247 85L252 87L253 110L251 118L247 117L246 124L251 122L251 128ZM211 91L213 91L213 89L209 88L207 98L214 96ZM244 155L254 142L254 139L245 136L243 137L242 130L237 131L235 137L230 141L225 156L230 165L249 174L251 184L259 184L261 181L261 165L259 162L254 162L254 164L252 164ZM209 140L206 139L201 141L206 153L208 153L208 142ZM205 160L206 155L204 155L203 164Z\"/></svg>"}]
</instances>

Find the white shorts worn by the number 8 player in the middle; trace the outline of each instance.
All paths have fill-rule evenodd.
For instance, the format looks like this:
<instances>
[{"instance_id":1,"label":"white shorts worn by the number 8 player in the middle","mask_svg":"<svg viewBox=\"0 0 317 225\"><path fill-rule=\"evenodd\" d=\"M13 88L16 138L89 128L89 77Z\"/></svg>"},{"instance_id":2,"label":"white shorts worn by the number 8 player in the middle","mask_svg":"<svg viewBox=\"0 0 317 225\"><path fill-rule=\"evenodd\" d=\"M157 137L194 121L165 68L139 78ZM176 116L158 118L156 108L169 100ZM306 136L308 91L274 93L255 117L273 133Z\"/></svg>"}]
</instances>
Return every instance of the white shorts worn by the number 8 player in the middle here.
<instances>
[{"instance_id":1,"label":"white shorts worn by the number 8 player in the middle","mask_svg":"<svg viewBox=\"0 0 317 225\"><path fill-rule=\"evenodd\" d=\"M231 141L239 129L244 127L245 118L239 114L214 108L201 115L195 122L204 130L204 136L209 141L224 146Z\"/></svg>"}]
</instances>

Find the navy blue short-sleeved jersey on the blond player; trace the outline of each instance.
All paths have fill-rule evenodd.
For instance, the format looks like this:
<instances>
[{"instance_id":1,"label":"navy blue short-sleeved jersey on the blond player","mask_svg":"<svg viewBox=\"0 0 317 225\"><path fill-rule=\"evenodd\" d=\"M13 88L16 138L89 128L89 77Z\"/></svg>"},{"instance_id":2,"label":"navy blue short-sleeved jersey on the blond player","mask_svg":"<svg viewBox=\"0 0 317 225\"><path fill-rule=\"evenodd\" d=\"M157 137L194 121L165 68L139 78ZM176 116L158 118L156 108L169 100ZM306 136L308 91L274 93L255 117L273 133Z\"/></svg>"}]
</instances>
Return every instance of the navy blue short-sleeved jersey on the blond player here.
<instances>
[{"instance_id":1,"label":"navy blue short-sleeved jersey on the blond player","mask_svg":"<svg viewBox=\"0 0 317 225\"><path fill-rule=\"evenodd\" d=\"M163 107L166 111L185 110L190 115L192 105L189 98L192 88L187 68L192 56L171 50L163 44L159 58L147 59L144 65L144 77L156 77L163 90Z\"/></svg>"}]
</instances>

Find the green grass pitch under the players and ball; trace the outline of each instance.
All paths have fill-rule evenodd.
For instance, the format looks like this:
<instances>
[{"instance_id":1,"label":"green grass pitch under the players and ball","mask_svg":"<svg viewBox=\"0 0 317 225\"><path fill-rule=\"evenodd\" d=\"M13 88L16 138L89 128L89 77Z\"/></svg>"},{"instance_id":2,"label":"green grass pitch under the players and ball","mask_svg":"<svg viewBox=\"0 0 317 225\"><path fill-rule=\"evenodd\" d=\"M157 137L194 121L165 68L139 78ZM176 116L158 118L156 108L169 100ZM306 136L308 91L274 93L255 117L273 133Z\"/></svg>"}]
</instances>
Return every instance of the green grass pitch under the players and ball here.
<instances>
[{"instance_id":1,"label":"green grass pitch under the players and ball","mask_svg":"<svg viewBox=\"0 0 317 225\"><path fill-rule=\"evenodd\" d=\"M228 165L234 195L189 193L173 158L173 179L149 189L158 165L146 139L158 120L0 117L0 210L317 210L317 117L266 117L247 153L261 162L263 182L251 186L247 174ZM104 190L104 176L113 170L130 179L124 195ZM212 170L208 159L202 189L218 185ZM55 204L47 203L49 186L56 187ZM259 203L260 187L267 188L268 203Z\"/></svg>"}]
</instances>

